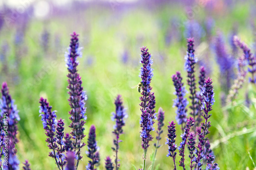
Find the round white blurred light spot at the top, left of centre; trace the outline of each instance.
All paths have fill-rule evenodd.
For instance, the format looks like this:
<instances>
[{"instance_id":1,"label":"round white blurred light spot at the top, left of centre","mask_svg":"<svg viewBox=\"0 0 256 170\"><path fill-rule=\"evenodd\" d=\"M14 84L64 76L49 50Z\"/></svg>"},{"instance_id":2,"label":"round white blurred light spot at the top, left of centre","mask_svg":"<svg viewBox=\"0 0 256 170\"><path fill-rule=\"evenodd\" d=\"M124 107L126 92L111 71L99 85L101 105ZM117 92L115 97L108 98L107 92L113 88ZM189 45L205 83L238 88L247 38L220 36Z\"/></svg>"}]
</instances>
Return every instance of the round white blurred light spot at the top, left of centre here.
<instances>
[{"instance_id":1,"label":"round white blurred light spot at the top, left of centre","mask_svg":"<svg viewBox=\"0 0 256 170\"><path fill-rule=\"evenodd\" d=\"M45 18L50 13L50 4L47 1L38 1L34 5L34 16L37 18Z\"/></svg>"}]
</instances>

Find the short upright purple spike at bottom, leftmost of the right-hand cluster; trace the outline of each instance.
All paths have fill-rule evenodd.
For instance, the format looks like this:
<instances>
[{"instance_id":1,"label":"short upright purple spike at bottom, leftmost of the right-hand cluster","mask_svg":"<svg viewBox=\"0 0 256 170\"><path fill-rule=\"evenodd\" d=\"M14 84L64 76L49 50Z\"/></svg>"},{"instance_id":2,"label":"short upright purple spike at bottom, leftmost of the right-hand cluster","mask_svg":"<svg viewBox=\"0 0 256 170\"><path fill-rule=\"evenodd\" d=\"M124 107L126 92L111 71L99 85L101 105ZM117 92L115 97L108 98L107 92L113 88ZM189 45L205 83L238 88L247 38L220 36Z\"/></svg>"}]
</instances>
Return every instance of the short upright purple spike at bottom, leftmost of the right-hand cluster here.
<instances>
[{"instance_id":1,"label":"short upright purple spike at bottom, leftmost of the right-hand cluster","mask_svg":"<svg viewBox=\"0 0 256 170\"><path fill-rule=\"evenodd\" d=\"M165 144L168 144L168 154L166 155L167 157L170 156L173 158L174 161L174 170L176 170L176 163L175 163L175 158L176 158L176 149L177 145L175 144L175 138L176 138L176 129L175 129L175 123L172 121L172 123L169 123L168 126L168 138Z\"/></svg>"}]
</instances>

